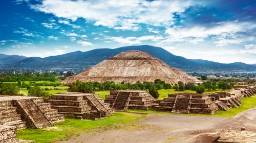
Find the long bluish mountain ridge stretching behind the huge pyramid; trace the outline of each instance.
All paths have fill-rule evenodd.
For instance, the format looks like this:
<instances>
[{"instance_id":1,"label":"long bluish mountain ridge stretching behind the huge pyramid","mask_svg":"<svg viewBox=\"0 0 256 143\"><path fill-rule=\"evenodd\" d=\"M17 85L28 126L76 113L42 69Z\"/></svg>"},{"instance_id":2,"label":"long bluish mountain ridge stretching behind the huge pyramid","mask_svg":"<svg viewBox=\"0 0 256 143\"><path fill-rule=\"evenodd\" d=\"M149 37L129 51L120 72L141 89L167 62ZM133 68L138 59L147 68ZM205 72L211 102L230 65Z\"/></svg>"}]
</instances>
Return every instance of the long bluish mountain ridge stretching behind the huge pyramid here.
<instances>
[{"instance_id":1,"label":"long bluish mountain ridge stretching behind the huge pyramid","mask_svg":"<svg viewBox=\"0 0 256 143\"><path fill-rule=\"evenodd\" d=\"M241 62L223 64L200 59L186 59L181 56L173 55L161 47L151 45L124 46L117 49L95 49L87 52L76 51L46 58L30 57L17 61L16 63L6 65L6 68L75 69L80 71L109 57L113 57L120 52L128 50L140 50L146 52L154 57L160 58L170 66L179 67L186 71L256 71L256 67Z\"/></svg>"}]
</instances>

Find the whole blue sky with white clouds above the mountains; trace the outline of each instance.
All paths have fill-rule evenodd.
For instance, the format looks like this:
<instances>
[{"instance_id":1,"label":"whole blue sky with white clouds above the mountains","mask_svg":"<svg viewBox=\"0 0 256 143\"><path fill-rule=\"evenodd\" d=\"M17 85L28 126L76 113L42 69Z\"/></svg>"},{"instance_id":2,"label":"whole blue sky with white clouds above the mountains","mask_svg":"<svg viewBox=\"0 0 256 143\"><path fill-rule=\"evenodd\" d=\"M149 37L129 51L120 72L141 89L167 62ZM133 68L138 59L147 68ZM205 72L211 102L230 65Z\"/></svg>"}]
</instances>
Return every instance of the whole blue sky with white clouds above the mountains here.
<instances>
[{"instance_id":1,"label":"whole blue sky with white clouds above the mountains","mask_svg":"<svg viewBox=\"0 0 256 143\"><path fill-rule=\"evenodd\" d=\"M256 63L255 1L1 1L0 53L47 57L150 44L188 59Z\"/></svg>"}]
</instances>

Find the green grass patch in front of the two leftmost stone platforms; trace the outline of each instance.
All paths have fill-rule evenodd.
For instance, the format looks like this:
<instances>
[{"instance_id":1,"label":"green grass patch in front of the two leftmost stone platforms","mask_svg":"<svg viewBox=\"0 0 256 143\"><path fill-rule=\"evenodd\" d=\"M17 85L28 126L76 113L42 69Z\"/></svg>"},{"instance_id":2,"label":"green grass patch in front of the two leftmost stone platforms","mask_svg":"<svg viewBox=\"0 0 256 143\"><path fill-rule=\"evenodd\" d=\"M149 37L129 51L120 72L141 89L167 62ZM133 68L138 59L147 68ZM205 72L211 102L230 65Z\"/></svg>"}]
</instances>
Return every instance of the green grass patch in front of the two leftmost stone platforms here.
<instances>
[{"instance_id":1,"label":"green grass patch in front of the two leftmost stone platforms","mask_svg":"<svg viewBox=\"0 0 256 143\"><path fill-rule=\"evenodd\" d=\"M53 140L65 140L73 135L79 135L79 131L94 129L97 127L108 127L109 125L134 122L146 117L147 114L135 114L117 112L113 116L103 118L97 121L77 120L74 118L65 118L64 123L59 123L47 129L23 129L17 131L19 139L35 140L39 142L52 142ZM50 127L51 128L51 127Z\"/></svg>"}]
</instances>

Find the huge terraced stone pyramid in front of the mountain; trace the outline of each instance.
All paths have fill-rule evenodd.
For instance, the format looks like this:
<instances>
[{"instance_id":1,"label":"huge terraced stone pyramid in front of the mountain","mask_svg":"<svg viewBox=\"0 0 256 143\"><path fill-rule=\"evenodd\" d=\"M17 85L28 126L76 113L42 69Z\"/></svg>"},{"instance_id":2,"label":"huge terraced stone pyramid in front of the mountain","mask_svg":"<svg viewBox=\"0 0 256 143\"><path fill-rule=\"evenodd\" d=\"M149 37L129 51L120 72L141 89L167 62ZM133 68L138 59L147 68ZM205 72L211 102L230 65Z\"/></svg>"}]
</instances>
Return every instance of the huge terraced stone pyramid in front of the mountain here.
<instances>
[{"instance_id":1,"label":"huge terraced stone pyramid in front of the mountain","mask_svg":"<svg viewBox=\"0 0 256 143\"><path fill-rule=\"evenodd\" d=\"M175 84L179 81L183 83L199 82L181 69L170 67L150 54L131 50L108 58L76 76L67 78L62 83L72 83L76 80L101 83L105 81L136 83L137 81L154 82L156 79L161 79L170 84Z\"/></svg>"}]
</instances>

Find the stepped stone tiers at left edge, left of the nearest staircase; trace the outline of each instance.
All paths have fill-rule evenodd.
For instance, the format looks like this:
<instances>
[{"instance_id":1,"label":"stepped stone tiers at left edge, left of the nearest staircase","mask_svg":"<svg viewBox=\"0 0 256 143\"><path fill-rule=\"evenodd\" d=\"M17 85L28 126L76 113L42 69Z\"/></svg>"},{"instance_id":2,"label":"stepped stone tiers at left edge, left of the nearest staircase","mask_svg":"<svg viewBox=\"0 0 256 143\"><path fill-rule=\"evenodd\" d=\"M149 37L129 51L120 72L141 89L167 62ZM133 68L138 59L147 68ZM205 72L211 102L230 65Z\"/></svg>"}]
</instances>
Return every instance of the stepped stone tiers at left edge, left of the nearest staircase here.
<instances>
[{"instance_id":1,"label":"stepped stone tiers at left edge, left of the nearest staircase","mask_svg":"<svg viewBox=\"0 0 256 143\"><path fill-rule=\"evenodd\" d=\"M23 122L21 115L16 112L12 101L0 102L0 125L15 126L17 129L26 128L26 122Z\"/></svg>"}]
</instances>

